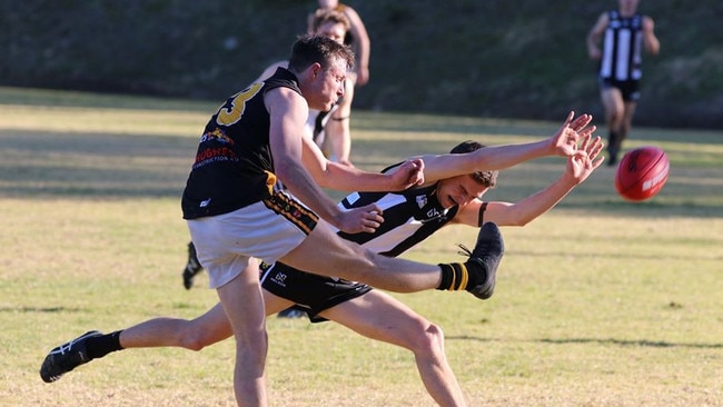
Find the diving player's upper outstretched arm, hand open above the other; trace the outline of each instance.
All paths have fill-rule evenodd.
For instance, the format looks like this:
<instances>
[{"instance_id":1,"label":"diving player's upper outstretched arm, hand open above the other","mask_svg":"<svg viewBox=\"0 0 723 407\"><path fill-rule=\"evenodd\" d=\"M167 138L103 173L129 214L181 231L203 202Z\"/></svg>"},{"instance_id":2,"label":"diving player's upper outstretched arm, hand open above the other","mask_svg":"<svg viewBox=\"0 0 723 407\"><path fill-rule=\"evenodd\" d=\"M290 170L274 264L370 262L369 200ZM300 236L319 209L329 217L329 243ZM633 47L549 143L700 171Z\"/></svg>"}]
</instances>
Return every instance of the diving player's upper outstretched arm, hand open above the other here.
<instances>
[{"instance_id":1,"label":"diving player's upper outstretched arm, hand open above the other","mask_svg":"<svg viewBox=\"0 0 723 407\"><path fill-rule=\"evenodd\" d=\"M571 111L552 137L539 141L492 146L462 155L423 156L425 180L429 183L475 171L501 170L546 156L583 156L577 143L595 131L595 126L588 126L592 118L590 115L575 118Z\"/></svg>"}]
</instances>

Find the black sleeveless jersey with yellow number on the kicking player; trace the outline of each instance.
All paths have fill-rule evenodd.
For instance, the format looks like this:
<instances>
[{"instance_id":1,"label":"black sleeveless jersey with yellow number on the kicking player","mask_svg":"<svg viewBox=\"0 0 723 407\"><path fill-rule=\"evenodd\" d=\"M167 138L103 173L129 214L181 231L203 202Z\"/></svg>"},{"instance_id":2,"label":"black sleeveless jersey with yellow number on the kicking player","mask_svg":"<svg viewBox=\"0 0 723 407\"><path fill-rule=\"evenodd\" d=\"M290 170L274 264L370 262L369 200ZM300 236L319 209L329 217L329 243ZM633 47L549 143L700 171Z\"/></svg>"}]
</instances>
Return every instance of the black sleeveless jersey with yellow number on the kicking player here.
<instances>
[{"instance_id":1,"label":"black sleeveless jersey with yellow number on the kicking player","mask_svg":"<svg viewBox=\"0 0 723 407\"><path fill-rule=\"evenodd\" d=\"M264 95L280 87L301 95L296 76L279 68L228 98L210 118L184 190L184 219L231 212L271 196L276 176Z\"/></svg>"}]
</instances>

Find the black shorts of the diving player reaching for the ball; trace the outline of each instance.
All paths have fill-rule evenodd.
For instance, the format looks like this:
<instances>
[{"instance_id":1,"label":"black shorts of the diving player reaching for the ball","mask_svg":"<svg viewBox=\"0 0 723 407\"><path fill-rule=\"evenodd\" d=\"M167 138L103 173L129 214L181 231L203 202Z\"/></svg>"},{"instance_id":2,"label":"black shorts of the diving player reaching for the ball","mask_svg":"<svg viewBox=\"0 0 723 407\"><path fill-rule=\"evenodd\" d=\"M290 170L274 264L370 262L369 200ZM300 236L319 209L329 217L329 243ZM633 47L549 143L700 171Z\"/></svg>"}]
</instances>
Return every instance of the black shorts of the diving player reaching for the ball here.
<instances>
[{"instance_id":1,"label":"black shorts of the diving player reaching for the ball","mask_svg":"<svg viewBox=\"0 0 723 407\"><path fill-rule=\"evenodd\" d=\"M283 262L261 266L261 287L296 302L311 322L326 321L319 312L372 290L365 284L300 271Z\"/></svg>"}]
</instances>

